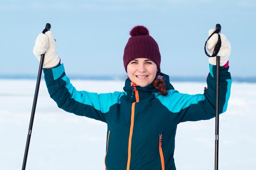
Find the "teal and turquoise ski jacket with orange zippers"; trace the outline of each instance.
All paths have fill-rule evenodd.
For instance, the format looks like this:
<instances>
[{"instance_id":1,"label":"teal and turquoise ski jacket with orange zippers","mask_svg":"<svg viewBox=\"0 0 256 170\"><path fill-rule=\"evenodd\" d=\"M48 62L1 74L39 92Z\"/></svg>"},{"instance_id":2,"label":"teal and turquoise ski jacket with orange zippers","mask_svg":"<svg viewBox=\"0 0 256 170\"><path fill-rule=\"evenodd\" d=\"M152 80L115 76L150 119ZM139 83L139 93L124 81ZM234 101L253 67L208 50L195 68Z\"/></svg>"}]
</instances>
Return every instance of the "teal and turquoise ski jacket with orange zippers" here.
<instances>
[{"instance_id":1,"label":"teal and turquoise ski jacket with orange zippers","mask_svg":"<svg viewBox=\"0 0 256 170\"><path fill-rule=\"evenodd\" d=\"M227 109L231 88L229 67L220 67L220 113ZM136 86L126 79L124 91L89 93L77 91L63 64L44 68L50 96L59 108L108 125L105 165L107 170L175 170L177 124L215 117L216 66L210 65L204 94L176 91L168 75L168 95L159 95L152 84Z\"/></svg>"}]
</instances>

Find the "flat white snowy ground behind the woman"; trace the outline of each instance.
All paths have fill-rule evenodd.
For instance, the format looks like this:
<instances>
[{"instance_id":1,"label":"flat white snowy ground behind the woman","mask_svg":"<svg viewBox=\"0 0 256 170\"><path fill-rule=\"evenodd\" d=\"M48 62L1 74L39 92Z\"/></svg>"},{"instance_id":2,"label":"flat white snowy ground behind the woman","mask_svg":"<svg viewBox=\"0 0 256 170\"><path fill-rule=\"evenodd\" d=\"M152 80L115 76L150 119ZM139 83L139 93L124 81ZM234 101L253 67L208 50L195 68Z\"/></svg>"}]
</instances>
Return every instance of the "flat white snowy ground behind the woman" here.
<instances>
[{"instance_id":1,"label":"flat white snowy ground behind the woman","mask_svg":"<svg viewBox=\"0 0 256 170\"><path fill-rule=\"evenodd\" d=\"M122 91L124 82L73 80L79 90ZM205 83L173 82L182 93L203 93ZM18 170L36 81L0 79L0 170ZM106 88L102 89L101 86ZM234 82L228 110L220 116L220 170L255 170L256 84ZM214 169L214 119L178 125L177 170ZM106 124L59 109L42 80L26 170L103 170Z\"/></svg>"}]
</instances>

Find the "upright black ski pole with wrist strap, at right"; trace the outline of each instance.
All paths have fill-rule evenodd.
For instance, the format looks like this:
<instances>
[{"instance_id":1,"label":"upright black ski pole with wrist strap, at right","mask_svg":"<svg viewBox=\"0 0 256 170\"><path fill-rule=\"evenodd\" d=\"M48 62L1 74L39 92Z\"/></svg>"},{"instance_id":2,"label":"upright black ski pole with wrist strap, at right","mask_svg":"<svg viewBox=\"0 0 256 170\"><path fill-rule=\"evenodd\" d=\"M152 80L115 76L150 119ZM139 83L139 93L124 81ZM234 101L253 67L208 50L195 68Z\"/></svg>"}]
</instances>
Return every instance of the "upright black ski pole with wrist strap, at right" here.
<instances>
[{"instance_id":1,"label":"upright black ski pole with wrist strap, at right","mask_svg":"<svg viewBox=\"0 0 256 170\"><path fill-rule=\"evenodd\" d=\"M221 26L220 24L216 24L216 29L215 31L209 36L211 36L215 33L218 33L218 42L214 47L213 54L209 55L206 51L206 43L209 40L205 42L204 45L204 52L208 57L215 57L216 56L216 117L215 117L215 166L214 170L218 170L218 159L219 159L219 113L220 113L220 56L218 56L218 52L220 51L220 46L221 46L221 39L220 39L220 31L221 31Z\"/></svg>"}]
</instances>

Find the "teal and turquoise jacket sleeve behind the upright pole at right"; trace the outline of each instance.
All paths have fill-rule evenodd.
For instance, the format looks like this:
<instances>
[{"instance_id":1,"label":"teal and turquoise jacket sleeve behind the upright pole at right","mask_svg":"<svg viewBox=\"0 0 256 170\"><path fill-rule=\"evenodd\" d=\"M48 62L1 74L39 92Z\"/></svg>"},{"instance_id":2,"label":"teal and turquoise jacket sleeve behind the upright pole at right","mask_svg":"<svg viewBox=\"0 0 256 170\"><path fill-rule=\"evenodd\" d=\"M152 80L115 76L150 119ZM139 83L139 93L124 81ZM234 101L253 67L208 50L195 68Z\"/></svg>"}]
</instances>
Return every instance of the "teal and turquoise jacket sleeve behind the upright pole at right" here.
<instances>
[{"instance_id":1,"label":"teal and turquoise jacket sleeve behind the upright pole at right","mask_svg":"<svg viewBox=\"0 0 256 170\"><path fill-rule=\"evenodd\" d=\"M210 66L207 76L207 88L204 94L182 94L178 91L168 91L166 98L160 97L160 101L171 111L171 115L177 124L184 121L207 120L216 115L216 66ZM220 113L227 110L227 103L231 89L231 75L229 67L220 67Z\"/></svg>"}]
</instances>

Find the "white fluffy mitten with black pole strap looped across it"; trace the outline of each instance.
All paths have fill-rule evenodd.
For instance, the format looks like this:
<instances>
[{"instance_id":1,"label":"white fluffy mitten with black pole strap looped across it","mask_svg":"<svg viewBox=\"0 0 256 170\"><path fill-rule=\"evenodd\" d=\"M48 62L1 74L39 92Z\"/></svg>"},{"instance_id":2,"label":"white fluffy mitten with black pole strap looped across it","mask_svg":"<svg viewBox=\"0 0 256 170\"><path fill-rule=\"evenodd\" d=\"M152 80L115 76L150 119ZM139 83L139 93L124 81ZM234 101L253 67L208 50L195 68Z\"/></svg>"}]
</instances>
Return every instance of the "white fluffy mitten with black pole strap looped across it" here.
<instances>
[{"instance_id":1,"label":"white fluffy mitten with black pole strap looped across it","mask_svg":"<svg viewBox=\"0 0 256 170\"><path fill-rule=\"evenodd\" d=\"M214 32L213 29L209 30L209 36ZM220 39L221 39L221 47L220 51L217 54L220 56L220 66L224 66L229 61L229 55L231 53L231 45L229 40L227 40L226 36L224 34L220 33ZM207 41L206 46L208 51L213 53L214 47L218 42L218 34L215 33L211 36L211 38ZM209 57L209 63L211 65L216 65L216 57Z\"/></svg>"}]
</instances>

